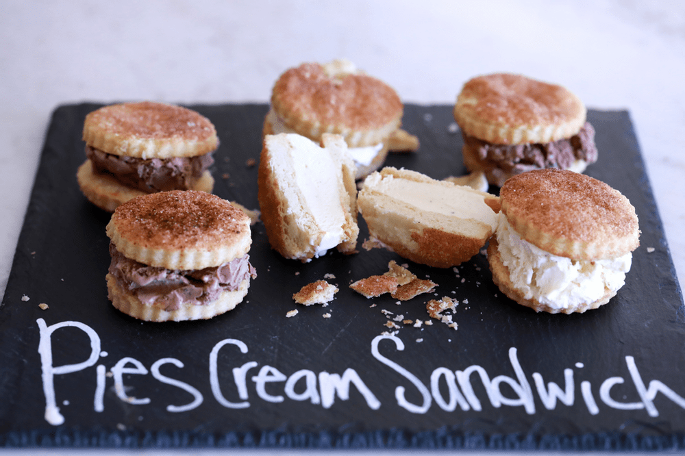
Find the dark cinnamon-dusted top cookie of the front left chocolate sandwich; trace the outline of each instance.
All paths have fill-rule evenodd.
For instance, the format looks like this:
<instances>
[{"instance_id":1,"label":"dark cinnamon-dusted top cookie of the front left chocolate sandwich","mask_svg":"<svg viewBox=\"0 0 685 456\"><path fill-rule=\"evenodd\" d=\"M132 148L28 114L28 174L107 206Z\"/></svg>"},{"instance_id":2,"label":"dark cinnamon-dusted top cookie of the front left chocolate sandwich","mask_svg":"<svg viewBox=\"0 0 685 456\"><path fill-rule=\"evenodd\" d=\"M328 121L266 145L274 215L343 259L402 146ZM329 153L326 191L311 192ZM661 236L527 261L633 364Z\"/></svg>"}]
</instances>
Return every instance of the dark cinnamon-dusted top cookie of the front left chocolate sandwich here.
<instances>
[{"instance_id":1,"label":"dark cinnamon-dusted top cookie of the front left chocolate sandwich","mask_svg":"<svg viewBox=\"0 0 685 456\"><path fill-rule=\"evenodd\" d=\"M116 208L107 236L126 257L167 269L202 269L240 258L250 248L250 218L206 192L172 190Z\"/></svg>"}]
</instances>

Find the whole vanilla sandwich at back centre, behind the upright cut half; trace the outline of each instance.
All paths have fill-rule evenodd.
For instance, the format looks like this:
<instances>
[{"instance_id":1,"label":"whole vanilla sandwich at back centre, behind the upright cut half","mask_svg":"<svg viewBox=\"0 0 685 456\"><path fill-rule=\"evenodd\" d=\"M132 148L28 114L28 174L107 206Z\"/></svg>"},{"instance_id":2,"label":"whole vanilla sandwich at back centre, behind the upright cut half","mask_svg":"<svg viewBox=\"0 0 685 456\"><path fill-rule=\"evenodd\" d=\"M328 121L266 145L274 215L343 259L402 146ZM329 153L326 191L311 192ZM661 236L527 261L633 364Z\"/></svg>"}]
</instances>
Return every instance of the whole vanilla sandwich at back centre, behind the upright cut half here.
<instances>
[{"instance_id":1,"label":"whole vanilla sandwich at back centre, behind the upright cut half","mask_svg":"<svg viewBox=\"0 0 685 456\"><path fill-rule=\"evenodd\" d=\"M320 142L340 134L360 179L384 163L390 150L415 150L416 137L401 130L397 92L348 60L305 63L283 73L273 86L264 135L297 133Z\"/></svg>"}]
</instances>

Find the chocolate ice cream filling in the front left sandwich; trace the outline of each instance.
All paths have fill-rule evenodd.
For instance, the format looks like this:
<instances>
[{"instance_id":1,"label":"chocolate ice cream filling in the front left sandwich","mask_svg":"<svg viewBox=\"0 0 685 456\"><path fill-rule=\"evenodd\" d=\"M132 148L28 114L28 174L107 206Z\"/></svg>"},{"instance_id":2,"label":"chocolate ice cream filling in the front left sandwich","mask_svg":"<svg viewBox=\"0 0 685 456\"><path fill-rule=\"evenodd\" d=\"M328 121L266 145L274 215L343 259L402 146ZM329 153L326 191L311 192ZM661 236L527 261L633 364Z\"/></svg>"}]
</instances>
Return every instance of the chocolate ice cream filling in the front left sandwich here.
<instances>
[{"instance_id":1,"label":"chocolate ice cream filling in the front left sandwich","mask_svg":"<svg viewBox=\"0 0 685 456\"><path fill-rule=\"evenodd\" d=\"M207 305L225 291L236 291L242 281L257 277L249 255L231 262L198 270L171 270L147 266L125 257L110 243L109 272L119 286L129 290L145 305L156 305L166 311L182 304Z\"/></svg>"}]
</instances>

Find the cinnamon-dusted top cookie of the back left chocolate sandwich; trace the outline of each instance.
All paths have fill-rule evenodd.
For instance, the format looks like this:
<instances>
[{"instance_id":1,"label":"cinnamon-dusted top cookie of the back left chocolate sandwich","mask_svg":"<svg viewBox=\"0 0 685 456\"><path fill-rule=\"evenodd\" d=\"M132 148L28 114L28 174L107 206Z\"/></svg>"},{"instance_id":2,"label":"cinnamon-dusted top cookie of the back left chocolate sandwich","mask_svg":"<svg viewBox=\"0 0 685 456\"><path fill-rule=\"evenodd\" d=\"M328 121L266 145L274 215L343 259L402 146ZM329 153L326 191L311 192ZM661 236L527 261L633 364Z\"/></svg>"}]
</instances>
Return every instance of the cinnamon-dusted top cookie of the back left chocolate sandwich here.
<instances>
[{"instance_id":1,"label":"cinnamon-dusted top cookie of the back left chocolate sandwich","mask_svg":"<svg viewBox=\"0 0 685 456\"><path fill-rule=\"evenodd\" d=\"M151 101L91 112L84 122L83 139L107 153L145 159L194 157L219 145L208 118L185 107Z\"/></svg>"}]
</instances>

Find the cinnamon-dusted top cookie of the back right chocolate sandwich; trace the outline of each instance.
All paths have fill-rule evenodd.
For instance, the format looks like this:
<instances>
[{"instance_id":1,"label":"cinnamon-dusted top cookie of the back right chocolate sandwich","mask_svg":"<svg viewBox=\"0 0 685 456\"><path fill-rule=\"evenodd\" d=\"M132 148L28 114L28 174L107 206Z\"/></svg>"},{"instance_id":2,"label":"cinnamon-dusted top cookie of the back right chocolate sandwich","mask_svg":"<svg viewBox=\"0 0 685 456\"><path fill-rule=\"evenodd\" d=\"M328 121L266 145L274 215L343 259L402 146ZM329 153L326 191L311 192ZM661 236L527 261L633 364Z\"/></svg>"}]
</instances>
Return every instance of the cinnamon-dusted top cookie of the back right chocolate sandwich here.
<instances>
[{"instance_id":1,"label":"cinnamon-dusted top cookie of the back right chocolate sandwich","mask_svg":"<svg viewBox=\"0 0 685 456\"><path fill-rule=\"evenodd\" d=\"M464 84L454 118L466 134L493 144L543 143L577 134L586 109L562 86L493 74Z\"/></svg>"}]
</instances>

